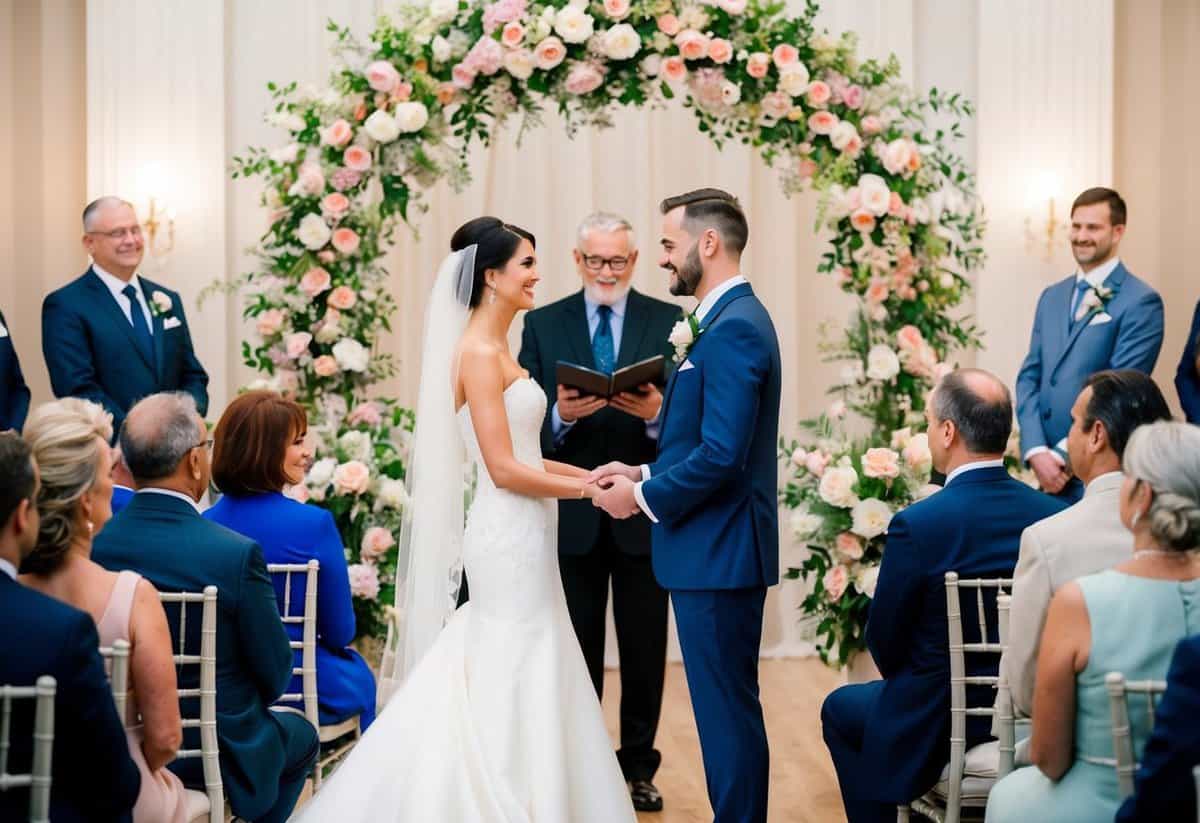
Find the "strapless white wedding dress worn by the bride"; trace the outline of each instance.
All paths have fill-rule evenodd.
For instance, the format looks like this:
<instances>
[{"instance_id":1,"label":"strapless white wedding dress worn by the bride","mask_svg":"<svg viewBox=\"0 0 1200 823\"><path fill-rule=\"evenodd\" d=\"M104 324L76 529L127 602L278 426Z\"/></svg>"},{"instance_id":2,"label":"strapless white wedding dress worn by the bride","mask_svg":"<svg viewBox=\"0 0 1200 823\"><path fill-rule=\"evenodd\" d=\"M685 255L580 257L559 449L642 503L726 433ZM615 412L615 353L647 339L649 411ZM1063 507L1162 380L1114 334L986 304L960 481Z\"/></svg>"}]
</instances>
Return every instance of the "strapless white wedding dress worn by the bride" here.
<instances>
[{"instance_id":1,"label":"strapless white wedding dress worn by the bride","mask_svg":"<svg viewBox=\"0 0 1200 823\"><path fill-rule=\"evenodd\" d=\"M545 394L521 378L504 407L514 455L540 469ZM470 601L295 819L631 822L563 595L558 504L496 488L467 407L458 425L479 473L463 536Z\"/></svg>"}]
</instances>

